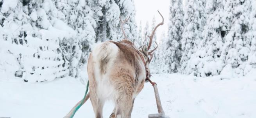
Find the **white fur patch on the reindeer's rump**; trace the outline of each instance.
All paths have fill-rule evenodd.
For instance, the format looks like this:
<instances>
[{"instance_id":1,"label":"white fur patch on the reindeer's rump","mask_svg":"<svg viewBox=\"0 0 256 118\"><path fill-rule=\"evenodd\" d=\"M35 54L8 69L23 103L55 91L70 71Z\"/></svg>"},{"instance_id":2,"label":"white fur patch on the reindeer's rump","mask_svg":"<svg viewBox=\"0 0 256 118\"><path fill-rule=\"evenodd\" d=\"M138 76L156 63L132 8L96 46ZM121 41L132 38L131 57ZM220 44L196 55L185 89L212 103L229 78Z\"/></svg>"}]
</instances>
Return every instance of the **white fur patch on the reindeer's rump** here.
<instances>
[{"instance_id":1,"label":"white fur patch on the reindeer's rump","mask_svg":"<svg viewBox=\"0 0 256 118\"><path fill-rule=\"evenodd\" d=\"M119 48L111 43L111 42L104 42L99 43L95 46L92 51L93 55L93 62L95 67L95 80L97 82L97 93L98 97L101 100L110 99L115 95L115 90L113 85L111 85L109 77L109 70L112 70L113 63L116 59L118 54ZM106 73L101 75L100 73L100 60L107 57L109 61L106 65ZM103 101L102 101L103 102Z\"/></svg>"}]
</instances>

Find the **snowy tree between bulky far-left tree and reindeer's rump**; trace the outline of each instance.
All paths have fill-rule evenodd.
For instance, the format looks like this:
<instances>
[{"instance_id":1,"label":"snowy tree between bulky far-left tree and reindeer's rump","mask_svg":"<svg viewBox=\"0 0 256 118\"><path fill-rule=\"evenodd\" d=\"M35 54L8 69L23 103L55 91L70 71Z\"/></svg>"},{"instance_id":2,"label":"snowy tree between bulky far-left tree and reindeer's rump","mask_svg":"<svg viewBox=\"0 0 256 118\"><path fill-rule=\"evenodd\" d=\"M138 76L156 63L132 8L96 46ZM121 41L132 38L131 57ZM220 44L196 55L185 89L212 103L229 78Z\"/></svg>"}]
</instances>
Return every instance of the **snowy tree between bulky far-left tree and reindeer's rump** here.
<instances>
[{"instance_id":1,"label":"snowy tree between bulky far-left tree and reindeer's rump","mask_svg":"<svg viewBox=\"0 0 256 118\"><path fill-rule=\"evenodd\" d=\"M55 2L57 6L59 2ZM77 33L76 37L65 38L60 42L65 61L70 62L68 65L72 77L79 74L78 69L86 63L90 48L95 42L96 21L93 19L91 4L94 4L91 0L62 0L60 7L57 7L62 14L68 14L64 19Z\"/></svg>"}]
</instances>

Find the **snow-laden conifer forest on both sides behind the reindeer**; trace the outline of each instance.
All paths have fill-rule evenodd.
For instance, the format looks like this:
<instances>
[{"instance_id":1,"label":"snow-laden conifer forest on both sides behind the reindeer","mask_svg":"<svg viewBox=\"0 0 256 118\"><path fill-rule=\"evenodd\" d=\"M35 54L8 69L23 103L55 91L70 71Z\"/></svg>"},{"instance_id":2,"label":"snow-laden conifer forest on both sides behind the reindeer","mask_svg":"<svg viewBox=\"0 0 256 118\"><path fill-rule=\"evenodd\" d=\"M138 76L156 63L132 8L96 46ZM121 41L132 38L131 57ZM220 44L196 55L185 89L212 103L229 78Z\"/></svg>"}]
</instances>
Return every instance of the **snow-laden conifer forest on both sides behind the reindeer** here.
<instances>
[{"instance_id":1,"label":"snow-laden conifer forest on both sides behind the reindeer","mask_svg":"<svg viewBox=\"0 0 256 118\"><path fill-rule=\"evenodd\" d=\"M255 6L253 0L171 0L152 72L246 75L256 68ZM131 0L1 0L0 8L0 73L25 82L79 77L95 43L124 38L119 17L130 16L124 29L138 47L156 24L137 25Z\"/></svg>"}]
</instances>

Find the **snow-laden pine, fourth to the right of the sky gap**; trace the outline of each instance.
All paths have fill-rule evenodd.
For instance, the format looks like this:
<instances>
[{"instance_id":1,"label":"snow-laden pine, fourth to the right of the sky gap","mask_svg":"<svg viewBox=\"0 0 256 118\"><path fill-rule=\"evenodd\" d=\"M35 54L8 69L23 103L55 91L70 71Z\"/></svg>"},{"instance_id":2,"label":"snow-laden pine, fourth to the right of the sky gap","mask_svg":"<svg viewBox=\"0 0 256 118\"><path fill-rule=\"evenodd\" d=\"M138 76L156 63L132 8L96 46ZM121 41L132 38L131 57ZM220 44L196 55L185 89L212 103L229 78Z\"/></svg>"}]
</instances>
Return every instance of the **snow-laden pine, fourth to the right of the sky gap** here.
<instances>
[{"instance_id":1,"label":"snow-laden pine, fourth to the right of the sky gap","mask_svg":"<svg viewBox=\"0 0 256 118\"><path fill-rule=\"evenodd\" d=\"M227 0L224 4L224 12L229 13L229 15L226 16L227 35L225 37L221 59L226 66L231 66L239 76L243 76L243 69L250 52L249 44L251 39L245 34L249 31L251 4L250 0L239 2L236 0ZM227 71L225 67L223 70Z\"/></svg>"}]
</instances>

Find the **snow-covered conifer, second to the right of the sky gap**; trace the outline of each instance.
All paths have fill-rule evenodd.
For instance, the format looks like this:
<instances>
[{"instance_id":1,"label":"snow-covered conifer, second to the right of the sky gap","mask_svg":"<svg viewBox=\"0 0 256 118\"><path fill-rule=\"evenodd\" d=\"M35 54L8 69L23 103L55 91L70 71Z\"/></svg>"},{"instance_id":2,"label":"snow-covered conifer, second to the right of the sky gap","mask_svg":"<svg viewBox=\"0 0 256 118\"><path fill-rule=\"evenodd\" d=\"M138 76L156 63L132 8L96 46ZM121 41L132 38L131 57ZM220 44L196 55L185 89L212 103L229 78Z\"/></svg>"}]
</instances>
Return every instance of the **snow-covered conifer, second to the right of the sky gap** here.
<instances>
[{"instance_id":1,"label":"snow-covered conifer, second to the right of the sky gap","mask_svg":"<svg viewBox=\"0 0 256 118\"><path fill-rule=\"evenodd\" d=\"M188 0L184 5L184 30L181 40L182 57L181 70L190 74L197 70L197 59L195 52L199 50L199 43L202 40L202 30L205 25L204 0Z\"/></svg>"}]
</instances>

